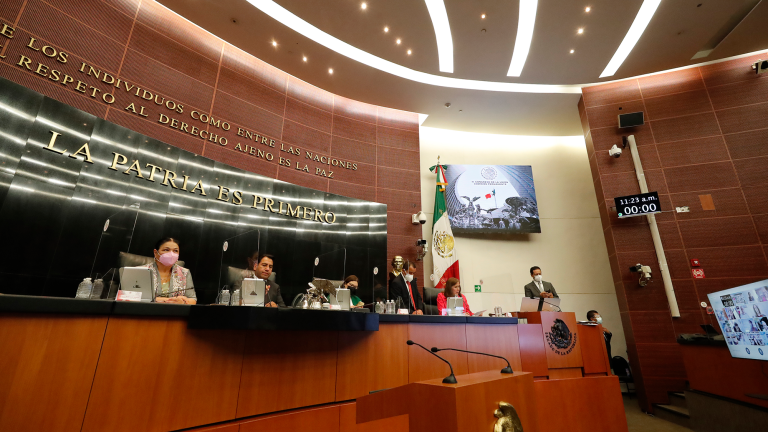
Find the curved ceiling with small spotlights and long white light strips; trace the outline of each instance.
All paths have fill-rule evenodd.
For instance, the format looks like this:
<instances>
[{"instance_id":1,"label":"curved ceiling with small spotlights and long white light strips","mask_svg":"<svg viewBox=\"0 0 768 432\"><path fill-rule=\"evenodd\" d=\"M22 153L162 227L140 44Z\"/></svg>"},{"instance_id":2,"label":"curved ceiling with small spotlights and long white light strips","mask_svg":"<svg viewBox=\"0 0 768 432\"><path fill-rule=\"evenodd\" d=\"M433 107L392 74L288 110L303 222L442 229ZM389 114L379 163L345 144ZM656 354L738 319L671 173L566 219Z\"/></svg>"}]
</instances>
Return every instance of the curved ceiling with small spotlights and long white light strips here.
<instances>
[{"instance_id":1,"label":"curved ceiling with small spotlights and long white light strips","mask_svg":"<svg viewBox=\"0 0 768 432\"><path fill-rule=\"evenodd\" d=\"M271 3L251 1L257 5ZM363 55L379 58L393 68L413 71L414 76L435 77L443 83L440 85L403 78L355 61L313 40L317 36L310 38L284 25L247 0L160 3L244 51L330 92L427 114L425 126L487 133L578 135L581 127L576 102L578 88L585 83L683 67L768 46L768 34L761 31L762 22L768 18L768 2L663 0L615 75L601 79L600 74L627 35L643 1L539 0L525 66L519 77L513 77L507 72L518 33L519 1L443 0L453 45L453 72L447 73L440 71L436 27L428 1L275 3L289 15ZM365 9L362 3L366 3ZM589 12L585 11L587 6ZM579 34L578 29L583 32ZM396 43L398 39L400 44ZM272 41L277 42L276 47ZM693 59L709 48L706 57ZM329 68L333 68L332 75ZM452 88L457 86L446 82L480 84ZM490 85L515 90L483 89ZM535 88L555 91L514 93ZM446 103L451 107L445 108Z\"/></svg>"}]
</instances>

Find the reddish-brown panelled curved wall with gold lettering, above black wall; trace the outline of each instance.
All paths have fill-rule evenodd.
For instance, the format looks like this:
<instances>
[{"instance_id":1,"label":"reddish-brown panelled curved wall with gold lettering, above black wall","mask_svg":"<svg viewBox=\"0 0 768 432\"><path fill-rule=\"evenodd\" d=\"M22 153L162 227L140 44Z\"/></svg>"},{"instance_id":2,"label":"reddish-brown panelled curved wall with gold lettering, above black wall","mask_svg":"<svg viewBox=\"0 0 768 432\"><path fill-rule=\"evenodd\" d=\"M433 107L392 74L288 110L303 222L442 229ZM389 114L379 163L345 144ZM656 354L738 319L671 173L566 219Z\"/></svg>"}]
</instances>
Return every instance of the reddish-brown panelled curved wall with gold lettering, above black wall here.
<instances>
[{"instance_id":1,"label":"reddish-brown panelled curved wall with gold lettering, above black wall","mask_svg":"<svg viewBox=\"0 0 768 432\"><path fill-rule=\"evenodd\" d=\"M417 114L311 86L154 1L4 0L0 45L0 76L48 97L243 170L387 204L387 255L415 257Z\"/></svg>"}]
</instances>

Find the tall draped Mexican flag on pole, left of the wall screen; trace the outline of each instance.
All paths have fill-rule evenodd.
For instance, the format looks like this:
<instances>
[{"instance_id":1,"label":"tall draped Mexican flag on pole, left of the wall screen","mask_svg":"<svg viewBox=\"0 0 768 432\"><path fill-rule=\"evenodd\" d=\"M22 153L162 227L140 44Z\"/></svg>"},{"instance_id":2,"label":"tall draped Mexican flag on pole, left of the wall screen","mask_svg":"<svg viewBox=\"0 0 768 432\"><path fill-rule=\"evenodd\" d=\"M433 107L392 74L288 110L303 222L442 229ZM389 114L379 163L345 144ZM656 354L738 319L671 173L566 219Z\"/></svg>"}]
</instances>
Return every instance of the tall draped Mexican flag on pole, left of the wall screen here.
<instances>
[{"instance_id":1,"label":"tall draped Mexican flag on pole, left of the wall screen","mask_svg":"<svg viewBox=\"0 0 768 432\"><path fill-rule=\"evenodd\" d=\"M444 288L448 278L459 278L459 256L445 206L445 166L429 169L437 175L435 183L435 212L432 219L432 276L435 288Z\"/></svg>"}]
</instances>

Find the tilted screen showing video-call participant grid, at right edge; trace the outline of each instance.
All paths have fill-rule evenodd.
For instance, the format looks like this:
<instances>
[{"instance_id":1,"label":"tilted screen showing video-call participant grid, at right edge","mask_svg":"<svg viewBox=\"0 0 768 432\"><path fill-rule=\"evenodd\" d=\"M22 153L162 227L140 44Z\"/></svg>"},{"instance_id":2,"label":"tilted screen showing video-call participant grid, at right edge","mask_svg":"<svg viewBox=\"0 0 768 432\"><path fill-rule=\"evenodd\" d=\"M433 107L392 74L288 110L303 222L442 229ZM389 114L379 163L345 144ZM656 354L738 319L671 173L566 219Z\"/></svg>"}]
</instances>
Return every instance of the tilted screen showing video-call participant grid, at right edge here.
<instances>
[{"instance_id":1,"label":"tilted screen showing video-call participant grid, at right edge","mask_svg":"<svg viewBox=\"0 0 768 432\"><path fill-rule=\"evenodd\" d=\"M768 279L707 296L731 356L768 360Z\"/></svg>"}]
</instances>

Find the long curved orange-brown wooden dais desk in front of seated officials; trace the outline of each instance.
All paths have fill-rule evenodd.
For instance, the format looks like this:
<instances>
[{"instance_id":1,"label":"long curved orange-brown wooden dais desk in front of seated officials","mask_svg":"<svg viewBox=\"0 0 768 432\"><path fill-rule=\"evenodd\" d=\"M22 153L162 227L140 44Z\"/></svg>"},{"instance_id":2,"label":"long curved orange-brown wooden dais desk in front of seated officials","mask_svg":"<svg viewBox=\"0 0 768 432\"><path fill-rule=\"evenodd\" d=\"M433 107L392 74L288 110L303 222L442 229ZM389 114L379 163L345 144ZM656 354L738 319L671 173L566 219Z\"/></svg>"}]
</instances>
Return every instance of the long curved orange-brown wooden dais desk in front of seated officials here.
<instances>
[{"instance_id":1,"label":"long curved orange-brown wooden dais desk in front of seated officials","mask_svg":"<svg viewBox=\"0 0 768 432\"><path fill-rule=\"evenodd\" d=\"M42 301L45 308L57 303L49 300ZM115 314L114 309L105 313L102 303L65 301L70 314L63 315L32 313L34 300L21 303L28 310L0 308L0 430L160 432L199 427L229 432L241 423L246 429L268 424L283 430L288 426L273 425L303 424L289 417L322 404L338 407L331 410L342 419L331 425L334 431L394 432L407 418L350 423L350 405L371 391L448 375L444 363L409 347L408 339L427 348L505 356L515 372L531 372L535 380L543 380L535 381L537 386L574 381L558 379L563 378L559 371L574 368L549 364L541 324L517 325L514 320L444 323L432 317L412 322L398 316L393 322L382 320L378 331L202 330L189 328L189 308L184 307L126 306ZM599 361L605 348L598 333L592 328L577 331L584 371L608 378ZM498 373L505 365L478 355L441 354L453 363L457 376ZM578 370L575 381L581 382ZM621 401L618 390L605 388L606 401ZM224 423L212 425L219 422Z\"/></svg>"}]
</instances>

